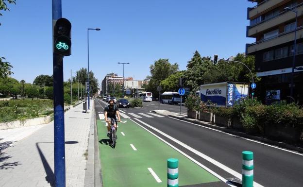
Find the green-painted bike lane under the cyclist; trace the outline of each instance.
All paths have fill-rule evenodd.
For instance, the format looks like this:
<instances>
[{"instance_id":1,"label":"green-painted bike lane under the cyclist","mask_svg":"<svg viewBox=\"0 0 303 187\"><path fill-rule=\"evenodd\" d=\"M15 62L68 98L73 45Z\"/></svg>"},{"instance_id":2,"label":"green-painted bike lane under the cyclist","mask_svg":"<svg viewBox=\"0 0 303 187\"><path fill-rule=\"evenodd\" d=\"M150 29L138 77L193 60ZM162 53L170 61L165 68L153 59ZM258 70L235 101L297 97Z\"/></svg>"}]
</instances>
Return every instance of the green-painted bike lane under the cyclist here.
<instances>
[{"instance_id":1,"label":"green-painted bike lane under the cyclist","mask_svg":"<svg viewBox=\"0 0 303 187\"><path fill-rule=\"evenodd\" d=\"M105 121L97 120L103 187L167 187L168 158L179 159L180 187L220 181L133 121L122 120L127 121L118 124L115 149L108 144ZM148 168L162 182L157 182Z\"/></svg>"}]
</instances>

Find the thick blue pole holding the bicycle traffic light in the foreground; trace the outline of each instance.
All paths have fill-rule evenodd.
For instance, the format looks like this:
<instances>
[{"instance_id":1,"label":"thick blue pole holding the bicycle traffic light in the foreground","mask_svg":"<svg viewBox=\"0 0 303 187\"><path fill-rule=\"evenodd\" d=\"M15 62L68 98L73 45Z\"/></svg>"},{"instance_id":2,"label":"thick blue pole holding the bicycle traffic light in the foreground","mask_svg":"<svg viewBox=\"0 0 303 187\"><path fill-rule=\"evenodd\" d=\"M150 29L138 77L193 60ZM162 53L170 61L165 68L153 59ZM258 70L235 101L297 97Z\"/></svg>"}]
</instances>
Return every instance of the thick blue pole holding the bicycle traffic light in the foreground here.
<instances>
[{"instance_id":1,"label":"thick blue pole holding the bicycle traffic light in the foreground","mask_svg":"<svg viewBox=\"0 0 303 187\"><path fill-rule=\"evenodd\" d=\"M52 20L62 17L61 0L52 0ZM54 95L54 177L55 187L65 187L65 140L64 140L64 99L63 99L63 57L53 56Z\"/></svg>"}]
</instances>

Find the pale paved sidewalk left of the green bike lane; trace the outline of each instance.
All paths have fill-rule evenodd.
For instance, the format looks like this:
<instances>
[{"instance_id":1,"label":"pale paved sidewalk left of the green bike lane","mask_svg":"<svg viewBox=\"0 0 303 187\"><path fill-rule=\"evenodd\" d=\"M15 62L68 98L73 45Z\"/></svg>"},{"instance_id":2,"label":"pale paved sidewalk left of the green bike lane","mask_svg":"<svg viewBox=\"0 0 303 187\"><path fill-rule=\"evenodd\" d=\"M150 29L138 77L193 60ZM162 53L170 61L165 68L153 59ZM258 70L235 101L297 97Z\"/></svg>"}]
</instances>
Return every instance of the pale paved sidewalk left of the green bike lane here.
<instances>
[{"instance_id":1,"label":"pale paved sidewalk left of the green bike lane","mask_svg":"<svg viewBox=\"0 0 303 187\"><path fill-rule=\"evenodd\" d=\"M82 112L82 104L65 113L67 187L84 187L86 164L91 162L85 159L84 153L88 150L89 135L94 135L93 102L90 101L88 113ZM94 139L90 140L93 144ZM53 187L53 141L53 121L0 130L0 187ZM94 158L89 154L88 157Z\"/></svg>"}]
</instances>

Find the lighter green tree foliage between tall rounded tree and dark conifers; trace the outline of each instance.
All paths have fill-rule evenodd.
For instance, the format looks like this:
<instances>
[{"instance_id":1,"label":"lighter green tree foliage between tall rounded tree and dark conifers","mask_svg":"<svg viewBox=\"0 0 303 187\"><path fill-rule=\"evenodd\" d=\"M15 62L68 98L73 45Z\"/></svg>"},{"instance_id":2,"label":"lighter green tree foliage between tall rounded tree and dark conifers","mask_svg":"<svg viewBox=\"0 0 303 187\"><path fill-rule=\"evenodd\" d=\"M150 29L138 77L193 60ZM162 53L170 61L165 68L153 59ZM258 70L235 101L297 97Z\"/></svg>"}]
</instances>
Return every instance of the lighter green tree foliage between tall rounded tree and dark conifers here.
<instances>
[{"instance_id":1,"label":"lighter green tree foliage between tall rounded tree and dark conifers","mask_svg":"<svg viewBox=\"0 0 303 187\"><path fill-rule=\"evenodd\" d=\"M177 91L179 88L179 78L185 76L185 71L178 71L171 74L165 80L161 81L161 86L163 91Z\"/></svg>"}]
</instances>

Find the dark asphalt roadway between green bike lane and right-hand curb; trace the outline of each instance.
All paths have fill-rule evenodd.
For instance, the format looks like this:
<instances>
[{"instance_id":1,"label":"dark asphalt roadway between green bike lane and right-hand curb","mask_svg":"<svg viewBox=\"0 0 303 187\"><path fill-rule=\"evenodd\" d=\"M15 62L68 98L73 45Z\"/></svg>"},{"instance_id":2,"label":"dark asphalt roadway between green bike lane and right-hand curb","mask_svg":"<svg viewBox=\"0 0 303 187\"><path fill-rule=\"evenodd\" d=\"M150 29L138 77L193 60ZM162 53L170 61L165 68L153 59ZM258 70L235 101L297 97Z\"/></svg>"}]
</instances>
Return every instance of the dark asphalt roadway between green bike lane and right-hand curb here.
<instances>
[{"instance_id":1,"label":"dark asphalt roadway between green bike lane and right-hand curb","mask_svg":"<svg viewBox=\"0 0 303 187\"><path fill-rule=\"evenodd\" d=\"M277 149L178 119L142 115L142 113L149 114L149 111L158 109L158 105L155 104L156 102L144 103L144 108L121 110L124 116L127 115L225 179L241 179L241 175L238 175L242 169L241 152L252 151L254 181L260 187L303 186L303 154ZM176 112L177 107L180 111L180 106L160 104L160 109L172 112ZM255 186L258 185L255 184Z\"/></svg>"}]
</instances>

